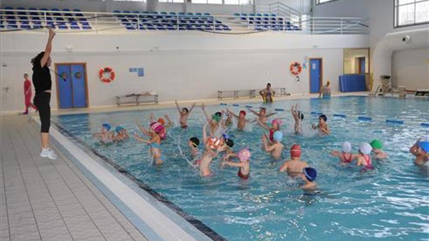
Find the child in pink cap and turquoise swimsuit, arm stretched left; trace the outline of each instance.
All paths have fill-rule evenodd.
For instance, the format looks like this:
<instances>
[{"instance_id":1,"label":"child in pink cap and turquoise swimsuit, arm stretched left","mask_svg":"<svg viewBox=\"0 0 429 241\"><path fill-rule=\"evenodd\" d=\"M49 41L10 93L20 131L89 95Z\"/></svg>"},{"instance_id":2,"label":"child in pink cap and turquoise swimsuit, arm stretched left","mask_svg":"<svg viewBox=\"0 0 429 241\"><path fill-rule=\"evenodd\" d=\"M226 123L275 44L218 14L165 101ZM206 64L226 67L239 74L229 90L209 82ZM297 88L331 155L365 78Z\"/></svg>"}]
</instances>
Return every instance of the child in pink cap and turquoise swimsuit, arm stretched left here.
<instances>
[{"instance_id":1,"label":"child in pink cap and turquoise swimsuit, arm stretched left","mask_svg":"<svg viewBox=\"0 0 429 241\"><path fill-rule=\"evenodd\" d=\"M137 134L134 135L137 141L145 142L151 147L151 155L156 165L164 163L164 158L161 154L161 137L159 136L159 133L163 130L164 127L159 122L155 122L151 125L149 131L147 131L151 137L150 140L145 140Z\"/></svg>"}]
</instances>

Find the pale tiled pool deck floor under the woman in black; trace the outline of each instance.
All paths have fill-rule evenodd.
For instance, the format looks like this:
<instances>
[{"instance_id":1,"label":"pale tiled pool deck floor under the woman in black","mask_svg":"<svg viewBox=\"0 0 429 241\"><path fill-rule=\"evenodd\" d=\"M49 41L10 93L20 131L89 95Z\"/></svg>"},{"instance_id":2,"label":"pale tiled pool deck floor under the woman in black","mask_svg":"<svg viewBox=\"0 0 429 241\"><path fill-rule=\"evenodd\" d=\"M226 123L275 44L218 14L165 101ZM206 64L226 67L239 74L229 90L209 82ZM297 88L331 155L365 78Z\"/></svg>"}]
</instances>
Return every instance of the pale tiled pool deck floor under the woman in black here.
<instances>
[{"instance_id":1,"label":"pale tiled pool deck floor under the woman in black","mask_svg":"<svg viewBox=\"0 0 429 241\"><path fill-rule=\"evenodd\" d=\"M39 156L39 127L1 117L1 241L145 241L74 164Z\"/></svg>"}]
</instances>

